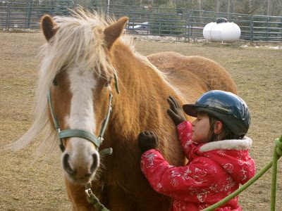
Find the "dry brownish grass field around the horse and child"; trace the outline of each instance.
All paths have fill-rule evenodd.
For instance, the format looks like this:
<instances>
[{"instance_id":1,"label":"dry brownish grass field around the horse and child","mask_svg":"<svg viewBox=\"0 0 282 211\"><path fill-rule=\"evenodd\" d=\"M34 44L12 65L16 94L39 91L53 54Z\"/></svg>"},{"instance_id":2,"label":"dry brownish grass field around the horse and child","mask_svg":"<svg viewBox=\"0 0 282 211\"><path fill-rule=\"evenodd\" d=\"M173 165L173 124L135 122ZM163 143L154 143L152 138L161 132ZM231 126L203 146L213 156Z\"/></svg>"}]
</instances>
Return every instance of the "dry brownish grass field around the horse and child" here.
<instances>
[{"instance_id":1,"label":"dry brownish grass field around the horse and child","mask_svg":"<svg viewBox=\"0 0 282 211\"><path fill-rule=\"evenodd\" d=\"M0 147L15 141L32 122L42 34L0 32ZM143 55L177 51L220 63L250 107L248 136L257 171L271 160L273 140L282 135L282 50L239 44L172 44L135 41ZM70 210L63 185L59 147L34 162L40 137L21 151L0 153L0 210ZM276 210L282 210L282 162L278 162ZM244 210L270 210L271 172L240 195Z\"/></svg>"}]
</instances>

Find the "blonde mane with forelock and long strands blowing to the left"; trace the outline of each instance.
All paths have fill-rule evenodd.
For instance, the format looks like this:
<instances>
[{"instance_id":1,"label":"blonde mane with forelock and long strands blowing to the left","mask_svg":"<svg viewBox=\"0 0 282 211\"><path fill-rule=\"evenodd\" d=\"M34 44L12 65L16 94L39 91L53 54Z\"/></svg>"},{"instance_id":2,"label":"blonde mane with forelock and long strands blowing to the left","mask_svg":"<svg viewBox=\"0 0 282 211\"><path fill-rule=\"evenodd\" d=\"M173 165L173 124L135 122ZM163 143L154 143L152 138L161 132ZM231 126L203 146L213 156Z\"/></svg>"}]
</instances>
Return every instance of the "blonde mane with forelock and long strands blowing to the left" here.
<instances>
[{"instance_id":1,"label":"blonde mane with forelock and long strands blowing to the left","mask_svg":"<svg viewBox=\"0 0 282 211\"><path fill-rule=\"evenodd\" d=\"M54 17L58 29L56 36L42 46L40 53L42 63L36 91L35 120L20 139L6 148L18 151L47 129L48 135L40 144L37 154L47 147L49 152L53 151L58 136L49 122L47 93L54 77L64 68L69 68L70 64L82 64L80 70L92 69L97 75L101 75L102 71L113 71L106 60L103 34L104 28L113 20L107 23L101 15L83 11L81 8L72 13L71 17Z\"/></svg>"}]
</instances>

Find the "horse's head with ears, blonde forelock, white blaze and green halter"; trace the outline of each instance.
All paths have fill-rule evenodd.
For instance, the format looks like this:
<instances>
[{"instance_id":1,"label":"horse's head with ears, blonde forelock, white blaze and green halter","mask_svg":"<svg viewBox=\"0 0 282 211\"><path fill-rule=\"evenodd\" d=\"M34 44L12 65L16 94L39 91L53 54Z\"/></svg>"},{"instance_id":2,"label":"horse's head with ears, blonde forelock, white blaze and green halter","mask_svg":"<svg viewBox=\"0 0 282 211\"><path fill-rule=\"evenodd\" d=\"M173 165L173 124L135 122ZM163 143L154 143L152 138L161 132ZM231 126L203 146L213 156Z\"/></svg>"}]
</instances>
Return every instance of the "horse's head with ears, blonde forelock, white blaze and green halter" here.
<instances>
[{"instance_id":1,"label":"horse's head with ears, blonde forelock, white blaze and green halter","mask_svg":"<svg viewBox=\"0 0 282 211\"><path fill-rule=\"evenodd\" d=\"M90 20L89 15L76 15L42 18L47 44L40 71L49 78L47 110L51 127L59 133L63 170L68 180L87 184L99 168L99 146L111 113L111 87L117 85L109 50L128 18L108 25L96 16Z\"/></svg>"}]
</instances>

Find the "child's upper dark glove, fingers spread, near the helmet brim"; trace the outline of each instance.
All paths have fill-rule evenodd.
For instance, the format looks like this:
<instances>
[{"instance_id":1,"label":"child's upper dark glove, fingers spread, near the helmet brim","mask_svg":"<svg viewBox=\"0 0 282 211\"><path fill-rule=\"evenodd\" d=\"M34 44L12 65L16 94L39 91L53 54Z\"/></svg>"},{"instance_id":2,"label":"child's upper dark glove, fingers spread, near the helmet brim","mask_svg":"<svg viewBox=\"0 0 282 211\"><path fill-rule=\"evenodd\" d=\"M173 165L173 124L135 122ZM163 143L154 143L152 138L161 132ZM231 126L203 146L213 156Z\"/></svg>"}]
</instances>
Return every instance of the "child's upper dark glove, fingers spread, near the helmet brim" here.
<instances>
[{"instance_id":1,"label":"child's upper dark glove, fingers spread, near the helmet brim","mask_svg":"<svg viewBox=\"0 0 282 211\"><path fill-rule=\"evenodd\" d=\"M169 96L166 101L169 103L169 108L166 110L166 112L168 113L169 117L171 117L171 120L173 120L174 124L177 126L181 122L186 121L183 109L181 106L179 106L176 98Z\"/></svg>"}]
</instances>

